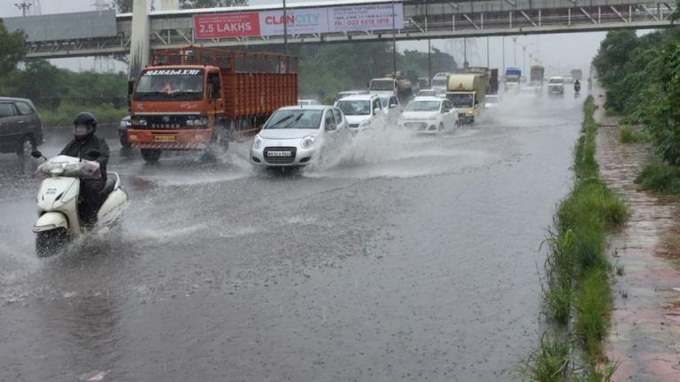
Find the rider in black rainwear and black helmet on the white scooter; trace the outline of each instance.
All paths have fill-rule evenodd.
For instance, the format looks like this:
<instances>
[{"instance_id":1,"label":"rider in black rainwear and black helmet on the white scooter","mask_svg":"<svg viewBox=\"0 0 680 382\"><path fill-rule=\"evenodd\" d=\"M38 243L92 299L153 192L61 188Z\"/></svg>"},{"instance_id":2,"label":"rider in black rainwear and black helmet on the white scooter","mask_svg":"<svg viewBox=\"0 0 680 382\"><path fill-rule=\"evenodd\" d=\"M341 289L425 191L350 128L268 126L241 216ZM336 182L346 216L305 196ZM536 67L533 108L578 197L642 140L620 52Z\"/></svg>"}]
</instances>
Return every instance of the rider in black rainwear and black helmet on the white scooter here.
<instances>
[{"instance_id":1,"label":"rider in black rainwear and black helmet on the white scooter","mask_svg":"<svg viewBox=\"0 0 680 382\"><path fill-rule=\"evenodd\" d=\"M78 212L86 226L97 222L97 211L102 206L99 192L106 184L106 164L109 162L109 145L104 138L97 137L96 131L97 118L89 112L81 112L73 120L73 140L59 154L99 162L102 177L81 180Z\"/></svg>"}]
</instances>

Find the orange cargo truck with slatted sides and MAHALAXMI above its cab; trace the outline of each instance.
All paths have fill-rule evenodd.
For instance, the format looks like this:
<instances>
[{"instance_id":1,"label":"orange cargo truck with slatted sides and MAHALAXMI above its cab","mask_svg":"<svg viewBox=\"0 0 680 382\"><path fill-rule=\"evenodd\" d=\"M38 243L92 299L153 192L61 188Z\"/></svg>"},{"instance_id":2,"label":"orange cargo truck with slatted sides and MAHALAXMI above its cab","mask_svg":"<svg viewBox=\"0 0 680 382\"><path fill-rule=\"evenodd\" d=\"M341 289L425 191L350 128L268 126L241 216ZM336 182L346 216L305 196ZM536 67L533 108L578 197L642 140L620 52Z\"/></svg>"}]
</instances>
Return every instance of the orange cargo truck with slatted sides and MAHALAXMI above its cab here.
<instances>
[{"instance_id":1,"label":"orange cargo truck with slatted sides and MAHALAXMI above its cab","mask_svg":"<svg viewBox=\"0 0 680 382\"><path fill-rule=\"evenodd\" d=\"M128 141L146 162L167 150L214 155L298 103L297 57L189 46L151 62L130 87Z\"/></svg>"}]
</instances>

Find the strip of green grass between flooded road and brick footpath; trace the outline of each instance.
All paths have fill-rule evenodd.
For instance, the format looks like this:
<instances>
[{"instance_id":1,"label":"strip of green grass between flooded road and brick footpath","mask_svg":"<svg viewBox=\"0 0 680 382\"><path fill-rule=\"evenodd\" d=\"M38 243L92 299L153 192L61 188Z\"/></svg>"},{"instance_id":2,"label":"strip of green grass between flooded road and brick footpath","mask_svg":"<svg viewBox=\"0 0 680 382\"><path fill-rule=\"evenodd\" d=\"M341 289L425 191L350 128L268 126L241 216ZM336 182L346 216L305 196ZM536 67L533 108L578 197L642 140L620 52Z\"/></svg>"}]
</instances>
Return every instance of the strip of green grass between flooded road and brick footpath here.
<instances>
[{"instance_id":1,"label":"strip of green grass between flooded road and brick footpath","mask_svg":"<svg viewBox=\"0 0 680 382\"><path fill-rule=\"evenodd\" d=\"M574 152L575 185L555 213L556 232L545 241L544 306L553 327L520 367L522 378L532 381L608 381L615 370L603 352L614 277L606 238L628 210L599 177L595 110L589 95Z\"/></svg>"}]
</instances>

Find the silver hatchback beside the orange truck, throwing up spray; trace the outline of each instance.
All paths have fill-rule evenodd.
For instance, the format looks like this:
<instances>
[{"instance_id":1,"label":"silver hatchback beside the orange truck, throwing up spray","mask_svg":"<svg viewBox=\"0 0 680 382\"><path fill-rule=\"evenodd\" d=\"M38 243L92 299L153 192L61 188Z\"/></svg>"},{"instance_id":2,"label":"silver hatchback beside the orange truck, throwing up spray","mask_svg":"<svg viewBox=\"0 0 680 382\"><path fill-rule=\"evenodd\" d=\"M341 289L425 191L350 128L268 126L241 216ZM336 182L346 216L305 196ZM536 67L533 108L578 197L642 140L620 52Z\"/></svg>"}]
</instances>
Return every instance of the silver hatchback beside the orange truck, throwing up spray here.
<instances>
[{"instance_id":1,"label":"silver hatchback beside the orange truck, throwing up spray","mask_svg":"<svg viewBox=\"0 0 680 382\"><path fill-rule=\"evenodd\" d=\"M252 141L251 161L268 167L304 166L332 156L350 141L343 112L333 106L288 106L274 111Z\"/></svg>"}]
</instances>

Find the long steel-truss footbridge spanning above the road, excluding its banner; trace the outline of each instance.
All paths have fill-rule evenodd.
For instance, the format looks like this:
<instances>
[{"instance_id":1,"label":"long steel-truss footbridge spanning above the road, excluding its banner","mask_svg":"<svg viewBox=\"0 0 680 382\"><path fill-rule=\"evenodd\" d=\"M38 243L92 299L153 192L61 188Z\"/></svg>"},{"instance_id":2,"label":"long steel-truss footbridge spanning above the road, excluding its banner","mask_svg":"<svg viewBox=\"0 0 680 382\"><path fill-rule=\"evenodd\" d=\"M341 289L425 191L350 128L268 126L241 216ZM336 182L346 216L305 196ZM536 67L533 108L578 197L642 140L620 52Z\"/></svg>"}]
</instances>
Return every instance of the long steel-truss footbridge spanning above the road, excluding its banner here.
<instances>
[{"instance_id":1,"label":"long steel-truss footbridge spanning above the road, excluding its banner","mask_svg":"<svg viewBox=\"0 0 680 382\"><path fill-rule=\"evenodd\" d=\"M135 4L137 1L135 1ZM146 3L141 1L140 3ZM290 13L328 7L376 5L391 9L396 17L381 29L345 31L289 30L289 43L371 42L479 37L515 34L554 34L603 31L614 28L669 27L672 0L338 0L290 4ZM136 5L135 5L136 6ZM141 35L151 50L195 44L233 47L283 42L282 33L200 38L196 18L228 13L241 16L282 11L279 5L244 6L196 10L150 11ZM289 13L289 14L290 14ZM136 13L135 13L136 14ZM57 17L60 19L55 20ZM42 18L42 19L41 19ZM70 19L69 19L70 18ZM77 19L77 20L76 20ZM94 19L88 21L88 19ZM78 24L73 24L73 23ZM58 24L61 32L50 31ZM23 28L29 38L27 57L59 58L128 54L133 41L133 13L113 11L8 18L9 29ZM79 27L72 27L78 25ZM137 24L135 24L137 25ZM84 26L84 28L83 28ZM63 33L65 27L77 29ZM140 32L137 32L139 36Z\"/></svg>"}]
</instances>

